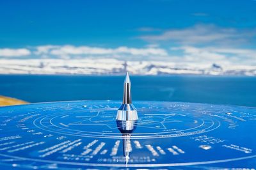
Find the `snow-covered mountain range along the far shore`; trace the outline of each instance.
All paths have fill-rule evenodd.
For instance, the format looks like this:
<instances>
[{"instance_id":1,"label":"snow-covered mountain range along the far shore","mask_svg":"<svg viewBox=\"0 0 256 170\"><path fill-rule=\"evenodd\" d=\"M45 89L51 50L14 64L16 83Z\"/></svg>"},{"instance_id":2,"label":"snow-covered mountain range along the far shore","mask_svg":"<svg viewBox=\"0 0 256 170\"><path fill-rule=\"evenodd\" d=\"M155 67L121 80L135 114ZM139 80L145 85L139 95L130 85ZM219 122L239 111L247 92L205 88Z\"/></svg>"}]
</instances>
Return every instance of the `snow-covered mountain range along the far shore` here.
<instances>
[{"instance_id":1,"label":"snow-covered mountain range along the far shore","mask_svg":"<svg viewBox=\"0 0 256 170\"><path fill-rule=\"evenodd\" d=\"M208 63L172 63L163 61L122 61L118 59L0 59L2 74L85 74L120 75L202 74L256 75L256 66Z\"/></svg>"}]
</instances>

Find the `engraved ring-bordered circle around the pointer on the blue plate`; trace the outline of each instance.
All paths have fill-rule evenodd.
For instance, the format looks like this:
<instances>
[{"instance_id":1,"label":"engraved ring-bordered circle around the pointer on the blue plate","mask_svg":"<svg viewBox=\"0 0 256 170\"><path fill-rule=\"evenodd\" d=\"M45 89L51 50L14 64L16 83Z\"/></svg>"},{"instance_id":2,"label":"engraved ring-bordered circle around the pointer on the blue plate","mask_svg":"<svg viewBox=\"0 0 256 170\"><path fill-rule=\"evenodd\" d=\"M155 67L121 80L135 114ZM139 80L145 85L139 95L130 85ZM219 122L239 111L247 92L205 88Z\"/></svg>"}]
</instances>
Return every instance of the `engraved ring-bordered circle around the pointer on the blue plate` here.
<instances>
[{"instance_id":1,"label":"engraved ring-bordered circle around the pointer on the blue plate","mask_svg":"<svg viewBox=\"0 0 256 170\"><path fill-rule=\"evenodd\" d=\"M205 115L191 117L165 109L138 108L140 118L132 138L180 137L202 134L218 128L220 122ZM36 127L65 135L122 138L116 127L116 108L56 112L35 120Z\"/></svg>"}]
</instances>

